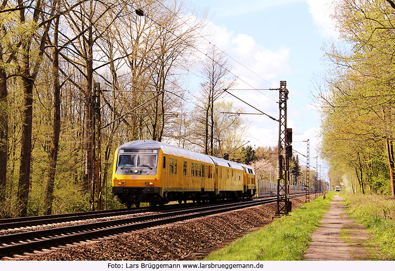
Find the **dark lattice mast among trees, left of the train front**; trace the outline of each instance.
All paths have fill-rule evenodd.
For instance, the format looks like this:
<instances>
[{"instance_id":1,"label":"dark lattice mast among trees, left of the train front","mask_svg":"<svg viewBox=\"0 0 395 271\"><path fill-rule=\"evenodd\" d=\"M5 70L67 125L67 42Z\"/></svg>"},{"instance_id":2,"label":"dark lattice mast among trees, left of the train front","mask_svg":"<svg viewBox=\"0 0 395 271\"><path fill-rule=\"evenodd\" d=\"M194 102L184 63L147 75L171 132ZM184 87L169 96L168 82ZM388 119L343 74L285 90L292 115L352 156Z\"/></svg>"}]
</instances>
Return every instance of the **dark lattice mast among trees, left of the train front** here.
<instances>
[{"instance_id":1,"label":"dark lattice mast among trees, left of the train front","mask_svg":"<svg viewBox=\"0 0 395 271\"><path fill-rule=\"evenodd\" d=\"M93 85L92 96L92 179L90 185L89 210L102 210L101 202L101 116L100 116L100 83Z\"/></svg>"}]
</instances>

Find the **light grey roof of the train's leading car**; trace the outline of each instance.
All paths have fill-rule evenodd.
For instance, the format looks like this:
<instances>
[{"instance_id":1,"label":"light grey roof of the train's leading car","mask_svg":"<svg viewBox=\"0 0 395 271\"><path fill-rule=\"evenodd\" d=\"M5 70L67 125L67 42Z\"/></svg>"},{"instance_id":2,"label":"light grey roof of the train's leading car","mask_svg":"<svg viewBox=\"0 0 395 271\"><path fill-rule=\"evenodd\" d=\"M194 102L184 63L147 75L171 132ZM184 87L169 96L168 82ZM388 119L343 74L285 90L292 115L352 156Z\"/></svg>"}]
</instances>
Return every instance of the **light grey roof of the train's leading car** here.
<instances>
[{"instance_id":1,"label":"light grey roof of the train's leading car","mask_svg":"<svg viewBox=\"0 0 395 271\"><path fill-rule=\"evenodd\" d=\"M143 140L136 140L136 141L131 141L128 143L124 143L123 145L120 145L118 147L119 150L124 150L124 149L161 149L164 154L167 155L174 155L178 157L183 157L191 160L197 160L201 161L204 163L210 163L213 164L213 160L210 159L209 156L201 154L201 153L195 153L189 150L181 149L178 147L174 147L170 144L166 144L163 142L158 142L155 140L150 140L150 139L143 139Z\"/></svg>"}]
</instances>

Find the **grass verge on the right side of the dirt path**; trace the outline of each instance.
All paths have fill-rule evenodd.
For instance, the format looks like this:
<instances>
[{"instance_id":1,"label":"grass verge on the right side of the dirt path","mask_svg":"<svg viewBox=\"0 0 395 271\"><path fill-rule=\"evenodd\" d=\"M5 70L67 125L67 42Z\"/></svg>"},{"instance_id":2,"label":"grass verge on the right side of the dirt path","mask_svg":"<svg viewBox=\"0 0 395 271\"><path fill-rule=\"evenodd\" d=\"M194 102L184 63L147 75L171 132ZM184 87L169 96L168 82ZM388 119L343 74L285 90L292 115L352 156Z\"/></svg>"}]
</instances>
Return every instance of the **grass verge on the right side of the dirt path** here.
<instances>
[{"instance_id":1,"label":"grass verge on the right side of the dirt path","mask_svg":"<svg viewBox=\"0 0 395 271\"><path fill-rule=\"evenodd\" d=\"M395 200L379 195L342 196L349 218L366 227L385 260L395 260Z\"/></svg>"}]
</instances>

